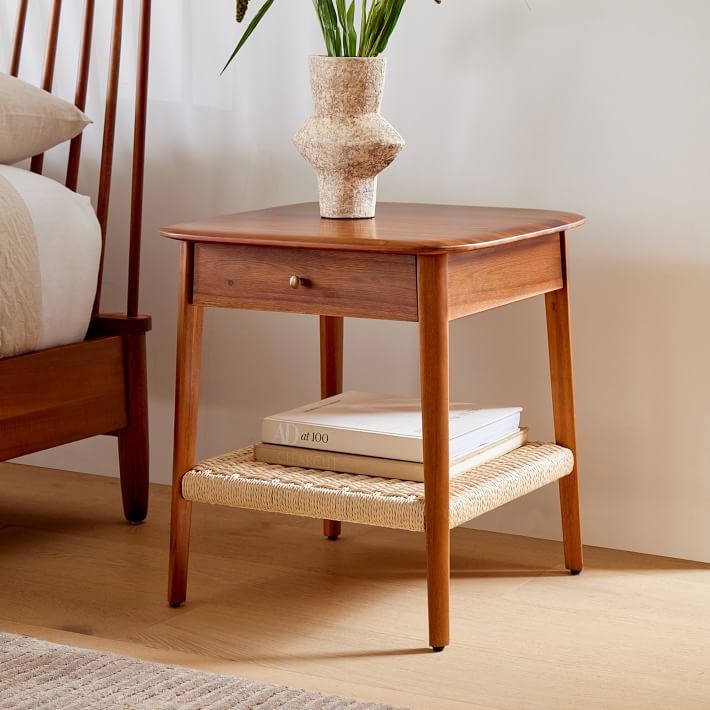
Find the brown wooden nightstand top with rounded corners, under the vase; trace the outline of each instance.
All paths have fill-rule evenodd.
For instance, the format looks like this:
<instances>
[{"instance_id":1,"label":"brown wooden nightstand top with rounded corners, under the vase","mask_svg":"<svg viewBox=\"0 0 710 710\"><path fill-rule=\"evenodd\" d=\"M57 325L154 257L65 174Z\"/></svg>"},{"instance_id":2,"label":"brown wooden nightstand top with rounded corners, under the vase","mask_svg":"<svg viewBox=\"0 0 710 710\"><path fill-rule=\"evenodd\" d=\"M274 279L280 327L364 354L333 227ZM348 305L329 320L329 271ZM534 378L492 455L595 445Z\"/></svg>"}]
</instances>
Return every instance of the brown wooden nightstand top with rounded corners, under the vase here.
<instances>
[{"instance_id":1,"label":"brown wooden nightstand top with rounded corners, under the vase","mask_svg":"<svg viewBox=\"0 0 710 710\"><path fill-rule=\"evenodd\" d=\"M397 254L468 251L578 227L568 212L381 202L374 219L322 219L315 202L242 212L165 227L192 242Z\"/></svg>"}]
</instances>

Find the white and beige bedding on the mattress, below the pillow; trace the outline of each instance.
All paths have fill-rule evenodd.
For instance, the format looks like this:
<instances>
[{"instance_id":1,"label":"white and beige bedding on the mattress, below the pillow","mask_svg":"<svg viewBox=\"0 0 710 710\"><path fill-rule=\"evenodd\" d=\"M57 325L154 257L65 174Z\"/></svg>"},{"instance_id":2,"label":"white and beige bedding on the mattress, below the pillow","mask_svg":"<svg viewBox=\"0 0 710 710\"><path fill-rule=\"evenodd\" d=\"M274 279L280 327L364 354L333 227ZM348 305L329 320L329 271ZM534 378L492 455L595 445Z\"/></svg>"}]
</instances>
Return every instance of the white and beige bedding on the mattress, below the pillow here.
<instances>
[{"instance_id":1,"label":"white and beige bedding on the mattress, below the pillow","mask_svg":"<svg viewBox=\"0 0 710 710\"><path fill-rule=\"evenodd\" d=\"M0 357L84 339L100 255L88 197L0 165Z\"/></svg>"}]
</instances>

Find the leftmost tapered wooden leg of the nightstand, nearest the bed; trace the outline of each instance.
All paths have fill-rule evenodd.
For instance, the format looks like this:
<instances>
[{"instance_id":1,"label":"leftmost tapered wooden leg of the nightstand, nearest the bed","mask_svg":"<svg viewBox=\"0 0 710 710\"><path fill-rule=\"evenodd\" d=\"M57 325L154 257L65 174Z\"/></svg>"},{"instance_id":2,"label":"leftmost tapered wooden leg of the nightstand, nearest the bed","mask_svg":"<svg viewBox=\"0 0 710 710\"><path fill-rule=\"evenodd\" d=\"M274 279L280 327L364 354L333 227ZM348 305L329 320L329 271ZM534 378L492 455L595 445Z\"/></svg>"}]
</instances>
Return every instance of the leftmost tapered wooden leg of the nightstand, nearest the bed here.
<instances>
[{"instance_id":1,"label":"leftmost tapered wooden leg of the nightstand, nearest the bed","mask_svg":"<svg viewBox=\"0 0 710 710\"><path fill-rule=\"evenodd\" d=\"M180 310L178 313L173 493L170 518L168 601L180 606L187 596L187 560L192 503L182 497L182 477L195 464L197 407L202 351L202 307L192 304L193 245L181 245Z\"/></svg>"}]
</instances>

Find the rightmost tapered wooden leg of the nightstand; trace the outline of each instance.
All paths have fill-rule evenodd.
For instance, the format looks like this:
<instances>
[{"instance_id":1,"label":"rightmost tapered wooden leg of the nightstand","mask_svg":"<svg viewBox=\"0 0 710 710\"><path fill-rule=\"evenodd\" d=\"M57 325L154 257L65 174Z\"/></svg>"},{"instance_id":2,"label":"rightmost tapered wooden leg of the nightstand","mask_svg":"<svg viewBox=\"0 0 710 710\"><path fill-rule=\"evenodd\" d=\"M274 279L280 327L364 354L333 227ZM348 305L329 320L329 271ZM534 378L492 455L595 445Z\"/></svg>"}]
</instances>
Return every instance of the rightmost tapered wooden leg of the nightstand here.
<instances>
[{"instance_id":1,"label":"rightmost tapered wooden leg of the nightstand","mask_svg":"<svg viewBox=\"0 0 710 710\"><path fill-rule=\"evenodd\" d=\"M577 432L574 411L572 377L572 345L567 287L567 259L565 235L562 240L564 287L545 295L547 337L550 351L552 407L555 418L555 439L574 454L572 473L560 479L560 507L562 509L562 539L565 566L572 574L579 574L584 566L582 533L579 520L579 477L577 474Z\"/></svg>"}]
</instances>

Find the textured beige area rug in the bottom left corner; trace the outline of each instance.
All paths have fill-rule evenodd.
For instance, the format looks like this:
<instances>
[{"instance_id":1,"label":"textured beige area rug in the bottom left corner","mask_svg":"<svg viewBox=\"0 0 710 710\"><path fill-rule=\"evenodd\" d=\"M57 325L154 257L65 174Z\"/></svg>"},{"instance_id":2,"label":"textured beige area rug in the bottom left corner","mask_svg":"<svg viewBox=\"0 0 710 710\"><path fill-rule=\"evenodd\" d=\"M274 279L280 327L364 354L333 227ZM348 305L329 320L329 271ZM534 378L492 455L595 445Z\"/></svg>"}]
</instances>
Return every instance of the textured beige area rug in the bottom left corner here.
<instances>
[{"instance_id":1,"label":"textured beige area rug in the bottom left corner","mask_svg":"<svg viewBox=\"0 0 710 710\"><path fill-rule=\"evenodd\" d=\"M0 634L0 708L393 710L14 634Z\"/></svg>"}]
</instances>

